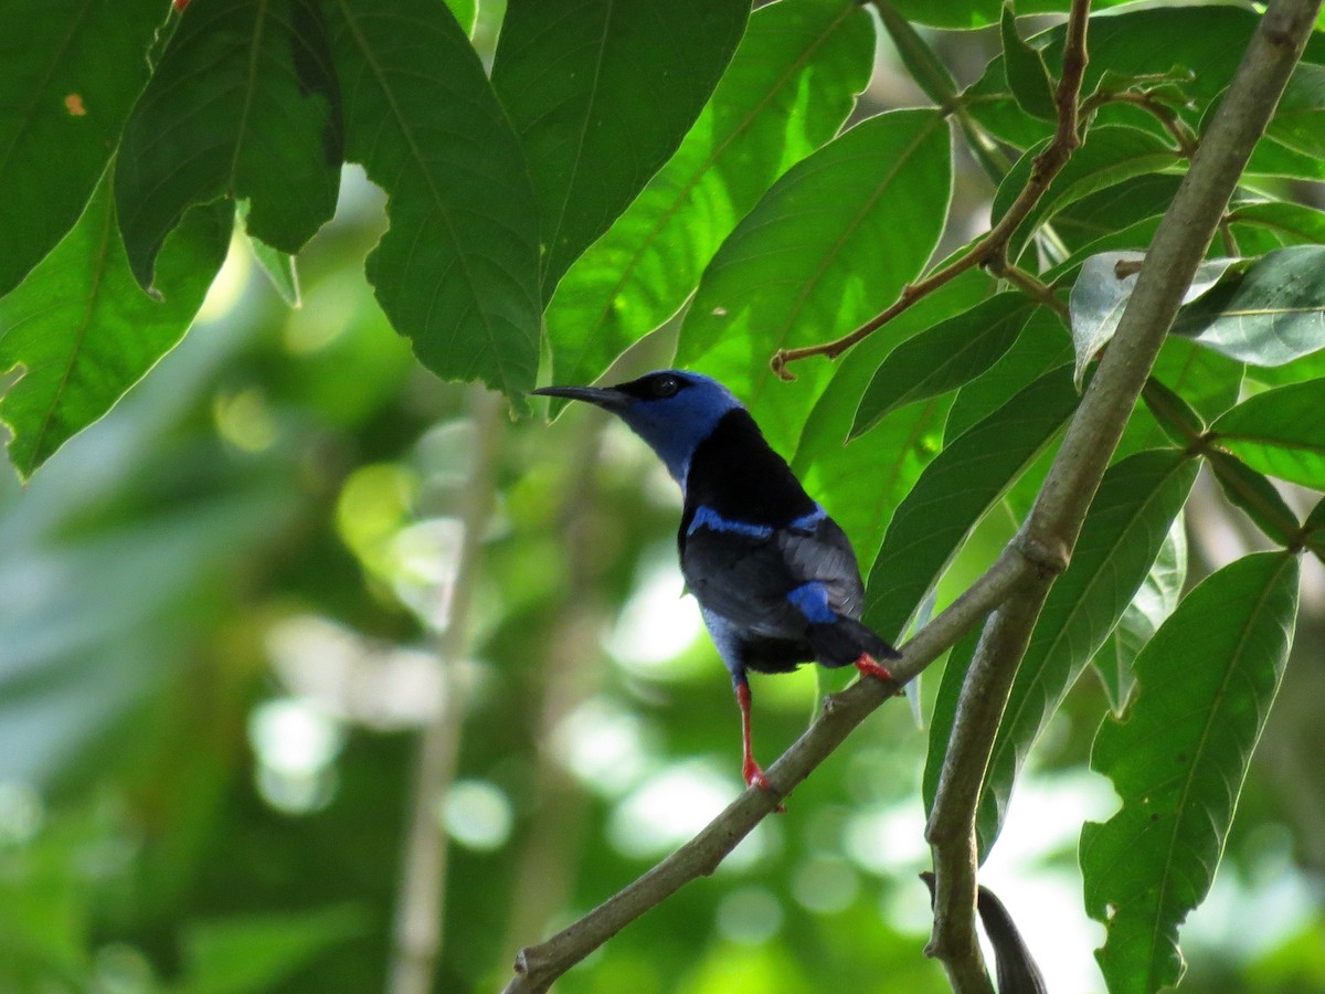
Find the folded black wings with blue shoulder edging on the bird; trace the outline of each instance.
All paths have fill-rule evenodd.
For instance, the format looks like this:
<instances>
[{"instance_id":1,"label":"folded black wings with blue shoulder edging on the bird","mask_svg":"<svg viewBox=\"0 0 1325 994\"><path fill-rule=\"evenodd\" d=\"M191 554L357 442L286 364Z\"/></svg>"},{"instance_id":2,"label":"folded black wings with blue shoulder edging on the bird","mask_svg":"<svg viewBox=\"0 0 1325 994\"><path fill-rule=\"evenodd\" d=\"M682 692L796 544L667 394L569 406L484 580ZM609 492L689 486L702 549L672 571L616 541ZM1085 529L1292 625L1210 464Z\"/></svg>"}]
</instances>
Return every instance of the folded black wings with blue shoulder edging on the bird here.
<instances>
[{"instance_id":1,"label":"folded black wings with blue shoulder edging on the bird","mask_svg":"<svg viewBox=\"0 0 1325 994\"><path fill-rule=\"evenodd\" d=\"M700 509L680 535L686 586L712 612L761 635L800 637L806 616L787 595L819 582L828 606L859 618L864 587L845 533L822 512L787 527L745 525Z\"/></svg>"}]
</instances>

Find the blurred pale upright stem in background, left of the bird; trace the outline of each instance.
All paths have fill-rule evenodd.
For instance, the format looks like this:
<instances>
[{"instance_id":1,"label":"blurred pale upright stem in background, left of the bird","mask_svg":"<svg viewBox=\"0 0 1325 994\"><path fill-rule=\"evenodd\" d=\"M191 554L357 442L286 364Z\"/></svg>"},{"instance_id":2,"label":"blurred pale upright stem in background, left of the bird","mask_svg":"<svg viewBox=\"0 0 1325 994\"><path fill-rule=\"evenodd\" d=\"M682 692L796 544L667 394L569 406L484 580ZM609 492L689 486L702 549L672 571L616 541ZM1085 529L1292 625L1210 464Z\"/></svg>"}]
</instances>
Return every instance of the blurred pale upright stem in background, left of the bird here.
<instances>
[{"instance_id":1,"label":"blurred pale upright stem in background, left of the bird","mask_svg":"<svg viewBox=\"0 0 1325 994\"><path fill-rule=\"evenodd\" d=\"M464 724L464 675L458 673L469 640L469 610L488 517L492 513L497 451L502 431L501 398L474 388L474 464L465 486L460 520L464 538L456 569L445 631L437 637L441 700L419 738L409 822L396 899L392 994L428 994L441 952L447 883L447 839L437 820L437 803L454 779Z\"/></svg>"}]
</instances>

